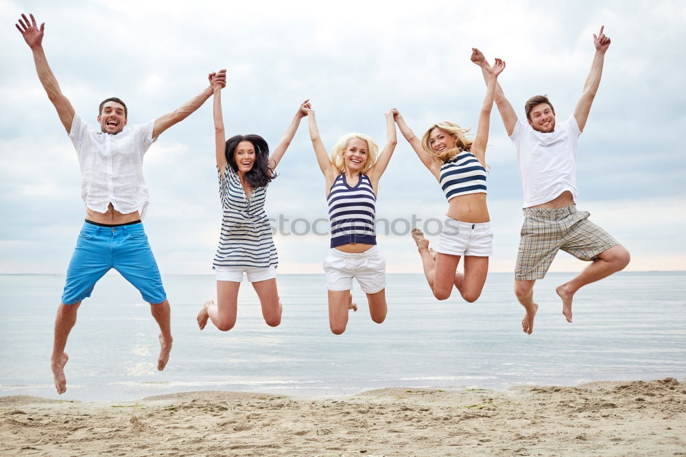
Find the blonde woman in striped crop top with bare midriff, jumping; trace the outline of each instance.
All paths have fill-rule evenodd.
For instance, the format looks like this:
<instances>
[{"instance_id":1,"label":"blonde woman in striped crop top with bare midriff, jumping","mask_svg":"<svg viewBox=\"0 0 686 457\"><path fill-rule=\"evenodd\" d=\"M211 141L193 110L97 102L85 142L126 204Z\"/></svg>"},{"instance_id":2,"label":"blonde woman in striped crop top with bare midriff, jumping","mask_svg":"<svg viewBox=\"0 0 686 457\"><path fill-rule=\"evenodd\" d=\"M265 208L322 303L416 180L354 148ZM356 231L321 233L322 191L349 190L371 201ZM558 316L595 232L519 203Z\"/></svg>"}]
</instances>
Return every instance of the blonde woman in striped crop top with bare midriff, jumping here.
<instances>
[{"instance_id":1,"label":"blonde woman in striped crop top with bare midriff, jumping","mask_svg":"<svg viewBox=\"0 0 686 457\"><path fill-rule=\"evenodd\" d=\"M488 85L473 140L466 136L469 129L442 121L429 127L420 141L400 113L394 112L403 137L438 180L448 200L447 218L436 251L429 249L429 241L421 230L412 231L427 282L438 300L448 298L454 285L462 298L471 303L479 298L486 282L488 257L493 251L493 231L486 207L486 144L497 76L504 68L505 62L500 59L493 66L484 65ZM460 257L464 257L464 274L457 270Z\"/></svg>"}]
</instances>

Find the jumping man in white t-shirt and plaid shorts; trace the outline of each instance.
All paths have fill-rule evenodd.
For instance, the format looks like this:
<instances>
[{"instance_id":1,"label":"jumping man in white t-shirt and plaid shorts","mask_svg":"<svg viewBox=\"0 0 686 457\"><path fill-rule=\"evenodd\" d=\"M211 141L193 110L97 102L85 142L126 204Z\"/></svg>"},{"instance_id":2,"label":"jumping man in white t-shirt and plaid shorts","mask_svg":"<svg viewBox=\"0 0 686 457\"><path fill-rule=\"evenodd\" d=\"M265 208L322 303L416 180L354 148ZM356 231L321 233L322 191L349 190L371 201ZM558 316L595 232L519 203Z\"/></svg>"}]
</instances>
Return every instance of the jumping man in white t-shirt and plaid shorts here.
<instances>
[{"instance_id":1,"label":"jumping man in white t-shirt and plaid shorts","mask_svg":"<svg viewBox=\"0 0 686 457\"><path fill-rule=\"evenodd\" d=\"M556 123L555 110L545 95L536 95L525 104L527 123L518 121L512 105L497 85L495 103L505 128L517 148L517 164L524 191L524 224L521 229L514 293L526 310L522 330L531 334L539 305L534 303L534 283L545 277L558 250L578 259L591 261L571 281L559 285L563 314L571 322L574 294L582 286L622 270L629 263L629 253L611 235L588 220L588 211L576 209L576 150L591 104L600 86L605 52L610 38L600 27L593 34L595 56L584 83L583 93L574 113ZM486 62L478 49L472 60ZM483 67L482 67L483 68Z\"/></svg>"}]
</instances>

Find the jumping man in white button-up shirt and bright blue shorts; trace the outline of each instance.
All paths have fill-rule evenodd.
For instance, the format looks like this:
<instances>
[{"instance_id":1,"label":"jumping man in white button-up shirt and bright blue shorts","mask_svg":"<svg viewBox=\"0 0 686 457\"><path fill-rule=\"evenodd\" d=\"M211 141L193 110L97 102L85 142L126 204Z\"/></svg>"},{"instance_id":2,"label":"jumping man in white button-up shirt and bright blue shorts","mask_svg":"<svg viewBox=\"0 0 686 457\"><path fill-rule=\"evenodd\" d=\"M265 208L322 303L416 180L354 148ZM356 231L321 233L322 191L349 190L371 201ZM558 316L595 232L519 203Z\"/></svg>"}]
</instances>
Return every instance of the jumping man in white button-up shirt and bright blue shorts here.
<instances>
[{"instance_id":1,"label":"jumping man in white button-up shirt and bright blue shorts","mask_svg":"<svg viewBox=\"0 0 686 457\"><path fill-rule=\"evenodd\" d=\"M64 352L81 301L91 296L95 282L110 268L117 269L150 303L152 316L161 333L158 370L163 370L171 351L169 301L163 288L157 263L143 231L148 196L143 179L143 154L167 128L188 117L212 95L205 89L171 113L147 124L125 127L128 110L118 98L111 97L99 106L93 126L74 111L62 94L43 52L43 31L32 14L30 22L22 14L16 28L31 48L36 72L47 96L55 106L62 125L77 151L82 174L82 198L86 202L86 222L79 235L64 285L62 303L55 321L55 338L51 368L59 394L67 390L64 365L69 357ZM226 84L226 73L217 78Z\"/></svg>"}]
</instances>

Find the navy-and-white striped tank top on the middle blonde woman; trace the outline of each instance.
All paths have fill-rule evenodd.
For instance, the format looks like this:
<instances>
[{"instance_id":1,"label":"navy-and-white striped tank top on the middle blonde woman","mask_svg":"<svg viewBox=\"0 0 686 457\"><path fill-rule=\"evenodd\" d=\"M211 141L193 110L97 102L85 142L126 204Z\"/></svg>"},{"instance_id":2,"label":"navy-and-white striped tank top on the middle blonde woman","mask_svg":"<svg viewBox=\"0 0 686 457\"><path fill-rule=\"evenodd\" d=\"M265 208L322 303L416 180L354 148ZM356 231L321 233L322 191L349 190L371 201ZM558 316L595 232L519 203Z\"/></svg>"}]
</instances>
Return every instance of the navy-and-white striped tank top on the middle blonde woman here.
<instances>
[{"instance_id":1,"label":"navy-and-white striped tank top on the middle blonde woman","mask_svg":"<svg viewBox=\"0 0 686 457\"><path fill-rule=\"evenodd\" d=\"M336 176L329 189L329 220L331 221L331 247L348 243L377 244L374 228L377 196L365 174L350 187L342 173Z\"/></svg>"}]
</instances>

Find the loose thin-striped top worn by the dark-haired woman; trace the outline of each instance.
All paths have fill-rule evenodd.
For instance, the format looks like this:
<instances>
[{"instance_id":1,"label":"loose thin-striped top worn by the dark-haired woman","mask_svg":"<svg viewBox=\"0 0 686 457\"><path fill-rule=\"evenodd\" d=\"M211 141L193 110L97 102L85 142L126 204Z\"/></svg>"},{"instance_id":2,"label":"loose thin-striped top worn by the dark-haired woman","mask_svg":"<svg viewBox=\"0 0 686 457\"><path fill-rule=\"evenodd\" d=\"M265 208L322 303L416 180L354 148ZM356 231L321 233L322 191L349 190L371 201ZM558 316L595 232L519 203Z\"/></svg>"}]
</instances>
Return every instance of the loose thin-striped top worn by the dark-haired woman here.
<instances>
[{"instance_id":1,"label":"loose thin-striped top worn by the dark-haired woman","mask_svg":"<svg viewBox=\"0 0 686 457\"><path fill-rule=\"evenodd\" d=\"M219 173L219 194L224 216L219 248L213 266L276 267L279 258L272 239L272 229L264 212L267 187L252 189L250 198L237 172L226 164L224 178Z\"/></svg>"}]
</instances>

